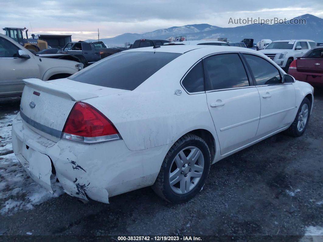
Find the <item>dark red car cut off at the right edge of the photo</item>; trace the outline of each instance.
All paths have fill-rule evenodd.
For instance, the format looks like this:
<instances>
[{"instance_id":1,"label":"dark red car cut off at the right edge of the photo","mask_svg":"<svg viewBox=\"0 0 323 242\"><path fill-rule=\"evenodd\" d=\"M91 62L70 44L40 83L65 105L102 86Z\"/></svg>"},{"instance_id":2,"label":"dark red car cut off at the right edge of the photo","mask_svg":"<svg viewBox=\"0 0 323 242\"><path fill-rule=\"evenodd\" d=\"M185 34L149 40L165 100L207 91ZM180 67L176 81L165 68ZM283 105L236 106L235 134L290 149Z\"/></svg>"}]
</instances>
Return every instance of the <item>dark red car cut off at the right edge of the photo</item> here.
<instances>
[{"instance_id":1,"label":"dark red car cut off at the right edge of the photo","mask_svg":"<svg viewBox=\"0 0 323 242\"><path fill-rule=\"evenodd\" d=\"M309 50L290 64L288 74L313 87L323 87L323 46Z\"/></svg>"}]
</instances>

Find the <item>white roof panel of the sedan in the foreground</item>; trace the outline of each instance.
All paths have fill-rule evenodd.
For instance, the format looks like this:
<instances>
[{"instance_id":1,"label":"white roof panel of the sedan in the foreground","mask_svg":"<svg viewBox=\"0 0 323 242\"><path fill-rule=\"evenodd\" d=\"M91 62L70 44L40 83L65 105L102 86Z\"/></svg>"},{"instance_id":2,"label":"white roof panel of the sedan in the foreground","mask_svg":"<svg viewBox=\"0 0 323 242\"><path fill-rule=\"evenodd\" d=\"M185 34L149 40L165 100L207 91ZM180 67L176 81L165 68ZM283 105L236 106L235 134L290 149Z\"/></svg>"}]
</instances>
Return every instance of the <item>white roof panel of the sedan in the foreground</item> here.
<instances>
[{"instance_id":1,"label":"white roof panel of the sedan in the foreground","mask_svg":"<svg viewBox=\"0 0 323 242\"><path fill-rule=\"evenodd\" d=\"M248 49L244 47L234 47L234 46L214 46L214 45L171 45L171 46L161 46L159 48L153 47L143 47L125 50L123 52L132 52L132 51L151 51L151 52L168 52L168 53L179 53L184 54L192 50L202 50L207 48L211 53L220 53L220 52L250 52L250 53L259 53L253 49ZM207 51L207 52L208 52Z\"/></svg>"}]
</instances>

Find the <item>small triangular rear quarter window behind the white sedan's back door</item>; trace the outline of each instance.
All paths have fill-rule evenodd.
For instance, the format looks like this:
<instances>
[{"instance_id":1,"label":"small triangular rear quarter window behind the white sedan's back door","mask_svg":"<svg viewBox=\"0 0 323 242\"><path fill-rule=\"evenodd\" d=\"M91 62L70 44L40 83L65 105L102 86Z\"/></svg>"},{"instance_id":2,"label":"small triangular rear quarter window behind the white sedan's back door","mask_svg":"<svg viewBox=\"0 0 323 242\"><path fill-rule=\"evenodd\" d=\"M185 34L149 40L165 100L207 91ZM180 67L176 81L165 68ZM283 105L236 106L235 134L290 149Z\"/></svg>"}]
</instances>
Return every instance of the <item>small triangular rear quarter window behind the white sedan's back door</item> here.
<instances>
[{"instance_id":1,"label":"small triangular rear quarter window behind the white sedan's back door","mask_svg":"<svg viewBox=\"0 0 323 242\"><path fill-rule=\"evenodd\" d=\"M204 78L202 61L196 64L182 81L184 88L190 92L204 91Z\"/></svg>"}]
</instances>

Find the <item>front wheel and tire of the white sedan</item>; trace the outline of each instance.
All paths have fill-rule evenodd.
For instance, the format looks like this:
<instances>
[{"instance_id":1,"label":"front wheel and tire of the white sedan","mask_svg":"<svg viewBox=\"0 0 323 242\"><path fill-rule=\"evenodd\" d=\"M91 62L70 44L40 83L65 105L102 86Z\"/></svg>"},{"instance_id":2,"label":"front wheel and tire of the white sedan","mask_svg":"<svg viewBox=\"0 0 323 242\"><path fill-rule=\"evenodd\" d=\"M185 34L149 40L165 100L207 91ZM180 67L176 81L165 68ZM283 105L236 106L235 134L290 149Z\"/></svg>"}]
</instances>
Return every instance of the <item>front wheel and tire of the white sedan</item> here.
<instances>
[{"instance_id":1,"label":"front wheel and tire of the white sedan","mask_svg":"<svg viewBox=\"0 0 323 242\"><path fill-rule=\"evenodd\" d=\"M293 123L289 126L285 133L293 137L301 136L307 128L310 111L311 103L308 98L304 98L301 105L299 105L299 109Z\"/></svg>"}]
</instances>

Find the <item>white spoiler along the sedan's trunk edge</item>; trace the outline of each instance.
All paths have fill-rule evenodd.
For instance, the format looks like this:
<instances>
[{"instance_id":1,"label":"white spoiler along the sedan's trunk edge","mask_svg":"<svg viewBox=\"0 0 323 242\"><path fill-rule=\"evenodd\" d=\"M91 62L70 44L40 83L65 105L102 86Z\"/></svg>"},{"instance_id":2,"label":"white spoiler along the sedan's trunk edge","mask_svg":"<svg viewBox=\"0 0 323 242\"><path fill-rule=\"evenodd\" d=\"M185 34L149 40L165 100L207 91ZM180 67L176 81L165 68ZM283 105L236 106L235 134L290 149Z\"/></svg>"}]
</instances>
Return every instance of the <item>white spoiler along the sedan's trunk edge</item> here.
<instances>
[{"instance_id":1,"label":"white spoiler along the sedan's trunk edge","mask_svg":"<svg viewBox=\"0 0 323 242\"><path fill-rule=\"evenodd\" d=\"M23 81L26 85L34 86L36 89L42 90L47 93L58 94L66 98L70 98L73 101L80 101L89 98L99 97L93 92L79 91L73 88L64 87L55 83L42 81L36 78L23 79Z\"/></svg>"}]
</instances>

